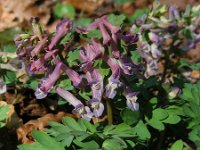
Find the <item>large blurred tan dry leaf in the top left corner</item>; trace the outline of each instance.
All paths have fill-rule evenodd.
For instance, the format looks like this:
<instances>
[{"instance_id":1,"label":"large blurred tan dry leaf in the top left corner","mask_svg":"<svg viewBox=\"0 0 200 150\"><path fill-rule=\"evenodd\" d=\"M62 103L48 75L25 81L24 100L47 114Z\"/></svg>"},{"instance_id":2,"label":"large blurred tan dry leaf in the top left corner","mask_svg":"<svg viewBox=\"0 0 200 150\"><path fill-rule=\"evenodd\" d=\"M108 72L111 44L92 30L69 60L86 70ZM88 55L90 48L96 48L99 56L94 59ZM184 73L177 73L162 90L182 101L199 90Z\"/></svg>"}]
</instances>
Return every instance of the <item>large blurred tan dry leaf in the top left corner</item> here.
<instances>
[{"instance_id":1,"label":"large blurred tan dry leaf in the top left corner","mask_svg":"<svg viewBox=\"0 0 200 150\"><path fill-rule=\"evenodd\" d=\"M40 17L41 23L47 24L50 19L51 5L54 0L0 0L0 31L27 23L31 17Z\"/></svg>"}]
</instances>

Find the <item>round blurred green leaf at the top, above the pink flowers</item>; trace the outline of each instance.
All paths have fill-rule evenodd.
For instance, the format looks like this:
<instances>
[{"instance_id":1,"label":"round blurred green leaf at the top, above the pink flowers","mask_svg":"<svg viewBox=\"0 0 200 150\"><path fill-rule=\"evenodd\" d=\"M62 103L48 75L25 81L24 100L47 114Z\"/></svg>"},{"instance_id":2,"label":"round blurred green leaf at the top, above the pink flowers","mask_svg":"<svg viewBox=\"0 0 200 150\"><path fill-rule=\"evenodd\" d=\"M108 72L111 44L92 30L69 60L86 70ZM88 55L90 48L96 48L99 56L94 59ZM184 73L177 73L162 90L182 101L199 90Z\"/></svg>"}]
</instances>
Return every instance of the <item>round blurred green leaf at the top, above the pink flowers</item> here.
<instances>
[{"instance_id":1,"label":"round blurred green leaf at the top, above the pink flowers","mask_svg":"<svg viewBox=\"0 0 200 150\"><path fill-rule=\"evenodd\" d=\"M54 14L59 18L74 19L76 12L72 5L57 3L54 7Z\"/></svg>"}]
</instances>

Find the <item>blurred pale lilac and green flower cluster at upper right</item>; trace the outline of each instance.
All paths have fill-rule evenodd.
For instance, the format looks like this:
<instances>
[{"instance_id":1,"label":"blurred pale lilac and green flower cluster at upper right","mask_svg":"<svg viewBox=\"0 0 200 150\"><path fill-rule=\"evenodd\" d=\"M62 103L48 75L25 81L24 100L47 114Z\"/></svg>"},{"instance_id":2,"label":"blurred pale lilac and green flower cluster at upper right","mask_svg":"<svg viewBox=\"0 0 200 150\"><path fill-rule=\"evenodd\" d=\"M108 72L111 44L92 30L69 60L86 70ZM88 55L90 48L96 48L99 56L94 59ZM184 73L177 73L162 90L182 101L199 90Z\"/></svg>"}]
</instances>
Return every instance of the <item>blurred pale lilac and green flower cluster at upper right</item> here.
<instances>
[{"instance_id":1,"label":"blurred pale lilac and green flower cluster at upper right","mask_svg":"<svg viewBox=\"0 0 200 150\"><path fill-rule=\"evenodd\" d=\"M135 21L131 30L139 35L138 51L147 62L146 77L161 73L158 62L164 53L188 51L200 42L199 11L200 6L188 6L182 13L175 5L168 8L156 2L148 15Z\"/></svg>"}]
</instances>

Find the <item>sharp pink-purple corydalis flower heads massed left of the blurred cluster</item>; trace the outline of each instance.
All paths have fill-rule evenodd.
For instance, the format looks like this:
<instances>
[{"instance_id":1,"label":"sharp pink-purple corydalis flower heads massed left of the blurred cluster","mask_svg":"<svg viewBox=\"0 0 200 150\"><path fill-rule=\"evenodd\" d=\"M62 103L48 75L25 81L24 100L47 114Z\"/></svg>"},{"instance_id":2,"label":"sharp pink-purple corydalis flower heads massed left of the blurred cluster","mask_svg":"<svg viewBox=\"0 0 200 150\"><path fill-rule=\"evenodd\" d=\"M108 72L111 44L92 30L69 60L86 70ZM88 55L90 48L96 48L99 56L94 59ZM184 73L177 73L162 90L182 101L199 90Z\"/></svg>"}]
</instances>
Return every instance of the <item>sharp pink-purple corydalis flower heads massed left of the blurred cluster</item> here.
<instances>
[{"instance_id":1,"label":"sharp pink-purple corydalis flower heads massed left of the blurred cluster","mask_svg":"<svg viewBox=\"0 0 200 150\"><path fill-rule=\"evenodd\" d=\"M112 25L107 16L101 17L87 28L75 27L72 21L64 19L57 25L56 32L53 34L44 31L38 19L32 19L32 26L33 33L17 35L15 43L18 57L25 63L27 72L30 75L44 75L35 92L37 99L45 98L51 89L56 87L57 94L74 106L73 113L79 114L89 121L92 116L102 116L104 112L103 97L107 100L114 99L119 92L119 87L128 87L121 81L122 77L128 78L128 76L135 75L143 77L141 65L134 64L131 59L128 59L128 52L120 52L121 40L127 45L131 45L137 41L137 35L124 34L124 30L120 26ZM89 43L81 46L79 68L73 70L66 63L62 52L73 50L75 46L72 42L61 44L60 41L72 31L77 31L73 33L80 37L81 34L87 35L93 29L100 30L102 40L91 38ZM127 38L131 40L127 40ZM100 72L100 68L95 65L98 61L102 61L107 68L110 67L112 72L110 76ZM77 90L90 89L92 91L91 99L84 102L76 98L73 92L59 87L57 83L63 76L69 78ZM139 105L136 99L130 101L129 95L130 92L124 92L124 98L132 103L127 103L127 106L131 110L137 111L139 107L133 109L133 105L134 103Z\"/></svg>"}]
</instances>

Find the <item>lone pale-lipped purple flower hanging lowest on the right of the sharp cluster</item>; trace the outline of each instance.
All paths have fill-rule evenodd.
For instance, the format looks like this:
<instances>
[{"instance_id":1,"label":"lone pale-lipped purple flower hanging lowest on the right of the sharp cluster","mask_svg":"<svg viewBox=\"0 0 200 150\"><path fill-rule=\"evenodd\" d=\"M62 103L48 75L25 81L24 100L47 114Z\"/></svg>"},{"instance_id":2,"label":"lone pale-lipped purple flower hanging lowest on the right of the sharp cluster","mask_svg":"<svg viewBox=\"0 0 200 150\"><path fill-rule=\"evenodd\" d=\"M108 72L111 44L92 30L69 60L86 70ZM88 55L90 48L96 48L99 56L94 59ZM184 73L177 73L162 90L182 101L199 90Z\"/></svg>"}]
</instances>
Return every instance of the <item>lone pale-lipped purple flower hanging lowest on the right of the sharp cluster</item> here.
<instances>
[{"instance_id":1,"label":"lone pale-lipped purple flower hanging lowest on the right of the sharp cluster","mask_svg":"<svg viewBox=\"0 0 200 150\"><path fill-rule=\"evenodd\" d=\"M130 108L132 111L138 111L139 103L136 102L138 99L138 92L132 92L128 87L125 87L123 94L126 97L126 105L128 106L128 108Z\"/></svg>"}]
</instances>

